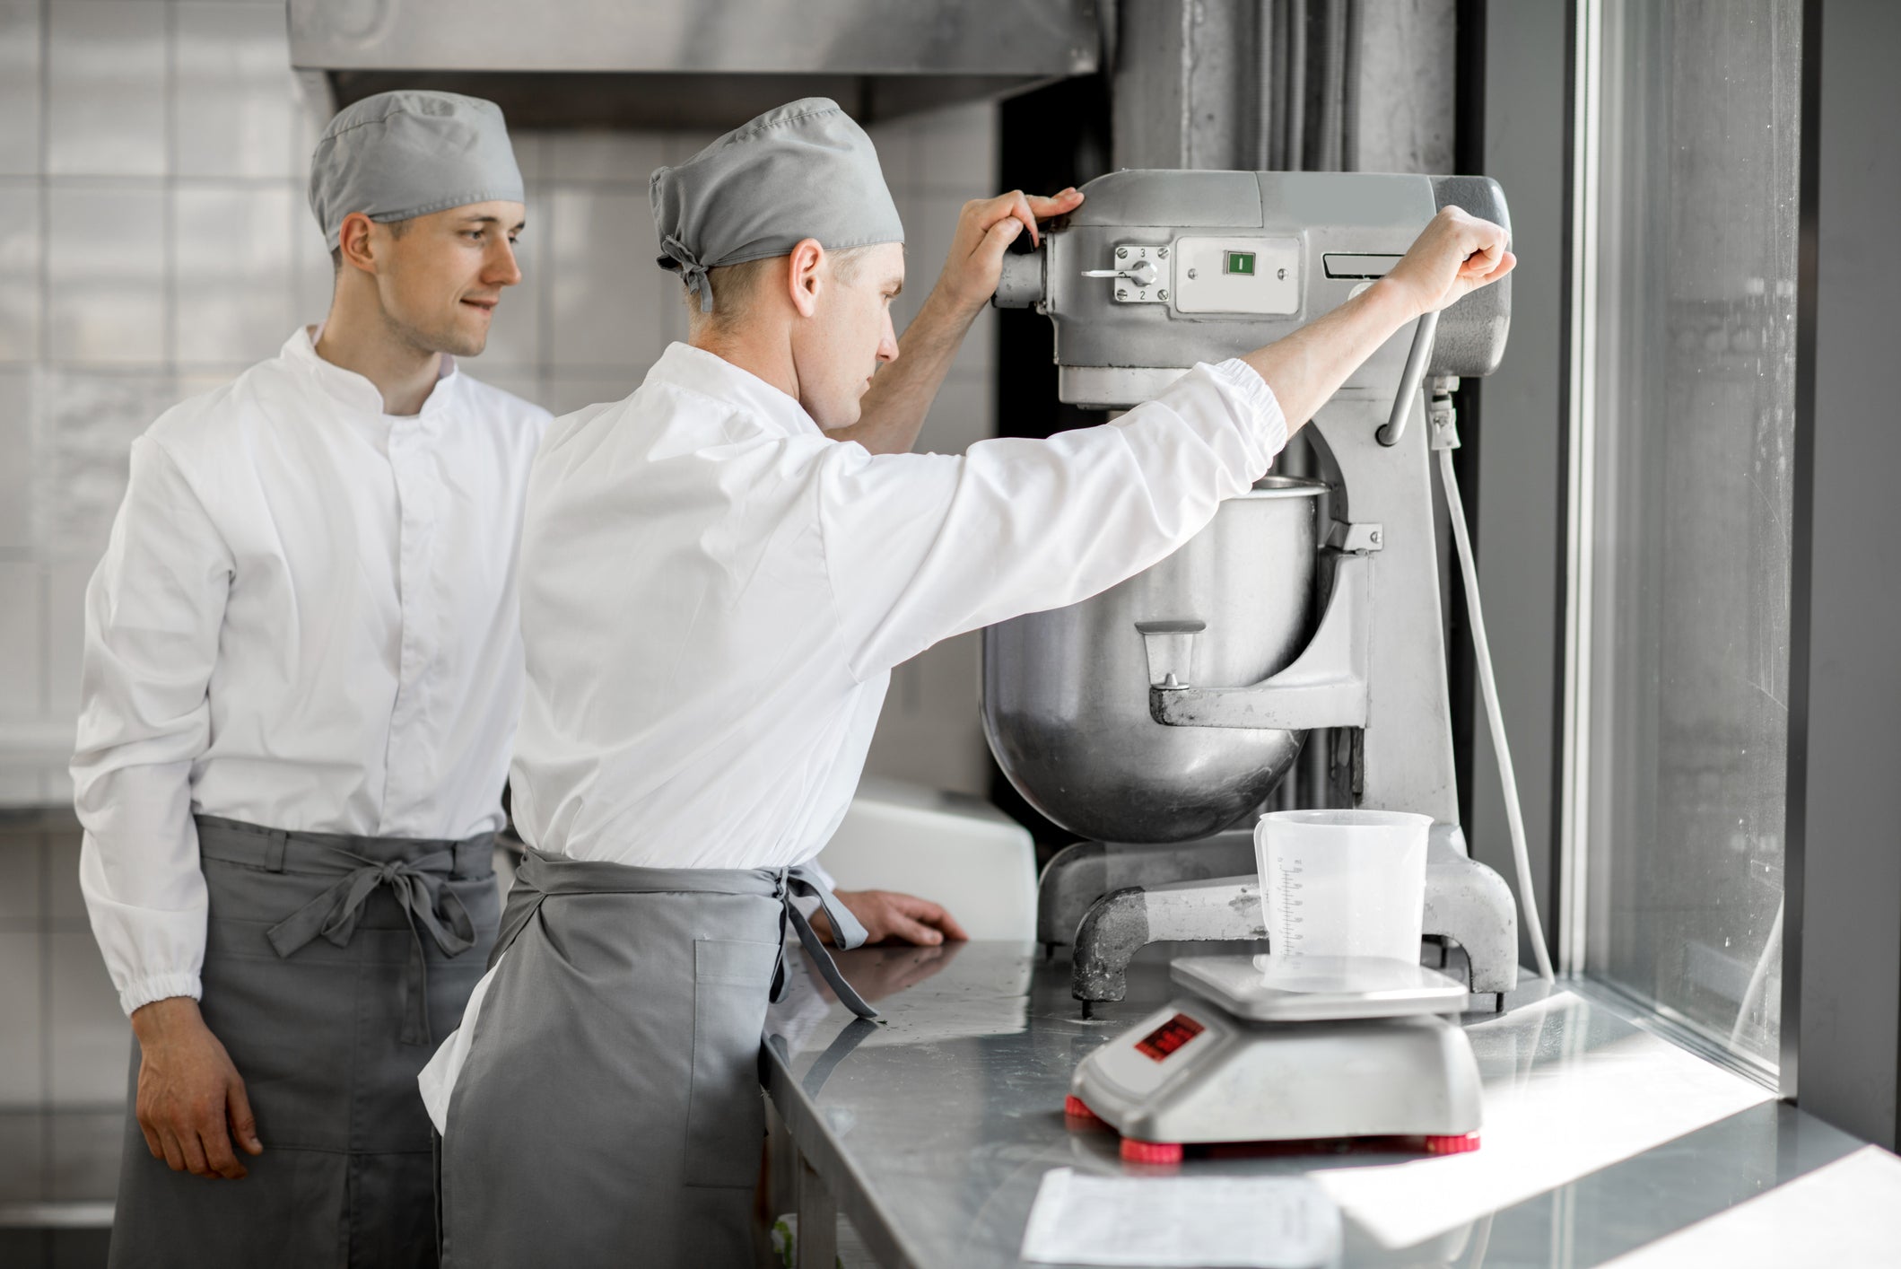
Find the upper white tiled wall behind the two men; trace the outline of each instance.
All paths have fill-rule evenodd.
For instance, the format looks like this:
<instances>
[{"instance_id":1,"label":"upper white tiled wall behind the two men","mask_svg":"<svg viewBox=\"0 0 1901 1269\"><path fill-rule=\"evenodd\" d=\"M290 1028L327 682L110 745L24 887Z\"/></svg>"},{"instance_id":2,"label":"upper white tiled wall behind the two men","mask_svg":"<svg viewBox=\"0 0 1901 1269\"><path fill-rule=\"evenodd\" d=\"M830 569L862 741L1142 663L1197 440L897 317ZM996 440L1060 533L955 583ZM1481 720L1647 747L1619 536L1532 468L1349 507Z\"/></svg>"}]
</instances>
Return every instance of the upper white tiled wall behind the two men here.
<instances>
[{"instance_id":1,"label":"upper white tiled wall behind the two men","mask_svg":"<svg viewBox=\"0 0 1901 1269\"><path fill-rule=\"evenodd\" d=\"M0 0L0 805L70 795L80 601L125 478L169 403L317 322L331 266L304 205L321 120L281 0ZM907 322L966 198L994 192L996 116L873 129L911 236ZM517 133L527 280L471 371L555 411L624 396L684 335L654 266L648 173L681 133ZM992 432L989 314L922 447ZM903 666L871 769L981 791L971 637Z\"/></svg>"}]
</instances>

